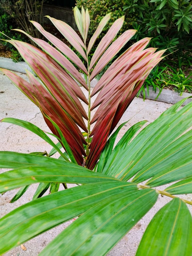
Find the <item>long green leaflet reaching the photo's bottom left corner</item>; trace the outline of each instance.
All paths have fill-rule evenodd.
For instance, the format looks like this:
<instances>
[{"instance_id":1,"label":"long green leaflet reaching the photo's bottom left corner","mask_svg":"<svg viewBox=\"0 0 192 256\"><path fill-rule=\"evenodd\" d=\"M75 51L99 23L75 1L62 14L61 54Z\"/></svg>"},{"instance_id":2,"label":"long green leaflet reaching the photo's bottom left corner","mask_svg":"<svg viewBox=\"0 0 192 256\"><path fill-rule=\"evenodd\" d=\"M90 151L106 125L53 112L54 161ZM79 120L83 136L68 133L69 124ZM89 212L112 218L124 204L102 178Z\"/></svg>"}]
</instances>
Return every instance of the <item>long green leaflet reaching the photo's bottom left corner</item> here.
<instances>
[{"instance_id":1,"label":"long green leaflet reaching the photo's bottom left corner","mask_svg":"<svg viewBox=\"0 0 192 256\"><path fill-rule=\"evenodd\" d=\"M125 191L137 191L137 186L120 181L99 182L62 190L20 206L0 219L0 254Z\"/></svg>"}]
</instances>

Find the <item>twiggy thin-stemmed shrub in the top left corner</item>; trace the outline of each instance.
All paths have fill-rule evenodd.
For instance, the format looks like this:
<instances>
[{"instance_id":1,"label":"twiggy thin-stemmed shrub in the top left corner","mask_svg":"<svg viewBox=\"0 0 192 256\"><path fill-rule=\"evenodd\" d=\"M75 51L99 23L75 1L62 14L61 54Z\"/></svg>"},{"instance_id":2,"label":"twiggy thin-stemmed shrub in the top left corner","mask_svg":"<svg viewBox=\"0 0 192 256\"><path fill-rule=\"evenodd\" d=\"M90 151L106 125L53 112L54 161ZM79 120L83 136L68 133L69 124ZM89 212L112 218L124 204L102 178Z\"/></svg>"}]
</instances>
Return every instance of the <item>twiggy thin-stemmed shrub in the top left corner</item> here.
<instances>
[{"instance_id":1,"label":"twiggy thin-stemmed shrub in the top left corner","mask_svg":"<svg viewBox=\"0 0 192 256\"><path fill-rule=\"evenodd\" d=\"M37 38L41 37L41 34L35 29L29 20L36 20L43 24L42 8L43 3L46 1L0 1L0 31L4 34L0 34L1 39L7 39L7 36L22 41L30 41L28 38L15 34L11 29L16 27L24 29L27 33ZM33 41L31 41L33 44ZM14 62L21 61L22 57L15 49L14 46L1 41L1 44L5 45L8 50L11 51L11 58Z\"/></svg>"}]
</instances>

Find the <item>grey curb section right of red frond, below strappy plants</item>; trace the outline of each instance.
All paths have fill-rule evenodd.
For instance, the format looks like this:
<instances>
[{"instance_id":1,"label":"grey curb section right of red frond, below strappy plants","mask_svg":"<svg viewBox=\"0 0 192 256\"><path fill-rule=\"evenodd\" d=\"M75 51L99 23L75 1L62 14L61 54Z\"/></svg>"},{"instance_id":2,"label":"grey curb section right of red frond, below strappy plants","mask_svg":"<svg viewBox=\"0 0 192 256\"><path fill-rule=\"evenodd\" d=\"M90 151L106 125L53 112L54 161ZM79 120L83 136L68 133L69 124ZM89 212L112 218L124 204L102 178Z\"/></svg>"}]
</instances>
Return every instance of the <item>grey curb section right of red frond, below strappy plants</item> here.
<instances>
[{"instance_id":1,"label":"grey curb section right of red frond, below strappy plants","mask_svg":"<svg viewBox=\"0 0 192 256\"><path fill-rule=\"evenodd\" d=\"M151 86L151 87L149 87L149 95L148 95L147 89L145 88L145 99L155 100L158 93L159 93L159 88L157 88L156 93L155 93L155 91L153 91L153 87ZM156 101L162 101L162 102L165 102L165 103L175 104L178 101L180 101L180 100L182 100L186 97L189 97L189 96L192 96L192 93L184 92L182 94L182 96L180 96L180 94L178 94L175 91L163 89ZM139 95L139 97L143 98L143 92ZM187 99L182 104L182 106L185 106L190 101L192 101L192 99Z\"/></svg>"}]
</instances>

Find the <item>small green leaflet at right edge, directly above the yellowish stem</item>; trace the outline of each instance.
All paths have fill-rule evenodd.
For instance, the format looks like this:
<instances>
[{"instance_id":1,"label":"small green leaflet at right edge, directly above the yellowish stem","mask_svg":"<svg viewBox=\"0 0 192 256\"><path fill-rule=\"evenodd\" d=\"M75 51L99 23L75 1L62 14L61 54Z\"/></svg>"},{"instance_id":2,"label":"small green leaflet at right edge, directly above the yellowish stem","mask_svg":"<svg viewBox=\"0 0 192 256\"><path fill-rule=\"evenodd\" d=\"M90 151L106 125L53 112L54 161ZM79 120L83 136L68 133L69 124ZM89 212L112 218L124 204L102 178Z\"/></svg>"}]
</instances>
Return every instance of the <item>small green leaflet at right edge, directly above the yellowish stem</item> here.
<instances>
[{"instance_id":1,"label":"small green leaflet at right edge, directly above the yellowish stem","mask_svg":"<svg viewBox=\"0 0 192 256\"><path fill-rule=\"evenodd\" d=\"M182 179L164 190L172 195L190 194L192 193L192 176Z\"/></svg>"}]
</instances>

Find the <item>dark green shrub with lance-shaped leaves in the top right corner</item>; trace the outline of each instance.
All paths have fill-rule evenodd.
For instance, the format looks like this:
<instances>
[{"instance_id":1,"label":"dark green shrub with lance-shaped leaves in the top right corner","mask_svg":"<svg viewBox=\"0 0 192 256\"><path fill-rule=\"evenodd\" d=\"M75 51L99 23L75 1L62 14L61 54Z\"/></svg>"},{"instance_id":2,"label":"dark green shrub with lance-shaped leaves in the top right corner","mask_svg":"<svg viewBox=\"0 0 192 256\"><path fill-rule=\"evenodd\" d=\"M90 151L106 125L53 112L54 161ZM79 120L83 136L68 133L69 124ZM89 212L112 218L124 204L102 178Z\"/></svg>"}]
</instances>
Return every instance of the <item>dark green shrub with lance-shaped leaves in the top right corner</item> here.
<instances>
[{"instance_id":1,"label":"dark green shrub with lance-shaped leaves in the top right corner","mask_svg":"<svg viewBox=\"0 0 192 256\"><path fill-rule=\"evenodd\" d=\"M153 37L152 47L170 48L169 52L179 50L190 51L191 37L188 36L192 28L192 5L189 0L126 0L123 7L129 14L137 17L133 28L138 30L136 40L144 36ZM187 47L187 49L186 49ZM178 53L176 53L177 55Z\"/></svg>"}]
</instances>

